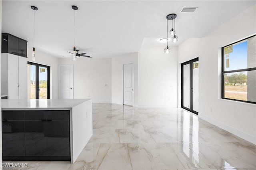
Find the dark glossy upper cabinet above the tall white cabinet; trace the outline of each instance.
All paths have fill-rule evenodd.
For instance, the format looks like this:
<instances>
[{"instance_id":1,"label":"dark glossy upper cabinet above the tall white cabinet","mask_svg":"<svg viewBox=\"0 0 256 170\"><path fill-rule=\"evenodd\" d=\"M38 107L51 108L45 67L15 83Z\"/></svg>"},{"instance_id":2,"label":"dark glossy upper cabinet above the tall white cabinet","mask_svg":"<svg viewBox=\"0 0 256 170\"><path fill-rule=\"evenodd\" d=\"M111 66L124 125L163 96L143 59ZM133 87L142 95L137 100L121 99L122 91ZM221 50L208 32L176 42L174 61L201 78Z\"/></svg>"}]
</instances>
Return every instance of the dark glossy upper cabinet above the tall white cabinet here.
<instances>
[{"instance_id":1,"label":"dark glossy upper cabinet above the tall white cabinet","mask_svg":"<svg viewBox=\"0 0 256 170\"><path fill-rule=\"evenodd\" d=\"M2 33L2 53L27 57L27 41L8 33Z\"/></svg>"}]
</instances>

